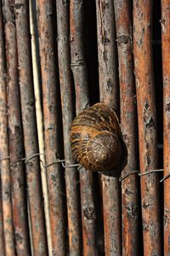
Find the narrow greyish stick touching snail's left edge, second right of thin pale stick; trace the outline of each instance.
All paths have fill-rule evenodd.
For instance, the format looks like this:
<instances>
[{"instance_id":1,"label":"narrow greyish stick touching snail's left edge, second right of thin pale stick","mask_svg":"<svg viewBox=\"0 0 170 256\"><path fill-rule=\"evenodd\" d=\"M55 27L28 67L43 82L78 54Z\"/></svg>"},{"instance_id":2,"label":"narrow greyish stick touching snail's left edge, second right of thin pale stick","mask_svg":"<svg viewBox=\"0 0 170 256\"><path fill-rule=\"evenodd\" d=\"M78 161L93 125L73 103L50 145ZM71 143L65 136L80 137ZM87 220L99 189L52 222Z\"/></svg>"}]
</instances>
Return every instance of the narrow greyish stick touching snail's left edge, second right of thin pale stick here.
<instances>
[{"instance_id":1,"label":"narrow greyish stick touching snail's left edge, second right of thin pale stick","mask_svg":"<svg viewBox=\"0 0 170 256\"><path fill-rule=\"evenodd\" d=\"M63 113L65 145L65 166L75 162L71 154L70 127L74 118L73 87L71 83L70 44L69 44L69 2L56 1L59 81ZM77 170L65 168L66 200L68 211L69 251L71 255L81 255L81 221L77 191Z\"/></svg>"}]
</instances>

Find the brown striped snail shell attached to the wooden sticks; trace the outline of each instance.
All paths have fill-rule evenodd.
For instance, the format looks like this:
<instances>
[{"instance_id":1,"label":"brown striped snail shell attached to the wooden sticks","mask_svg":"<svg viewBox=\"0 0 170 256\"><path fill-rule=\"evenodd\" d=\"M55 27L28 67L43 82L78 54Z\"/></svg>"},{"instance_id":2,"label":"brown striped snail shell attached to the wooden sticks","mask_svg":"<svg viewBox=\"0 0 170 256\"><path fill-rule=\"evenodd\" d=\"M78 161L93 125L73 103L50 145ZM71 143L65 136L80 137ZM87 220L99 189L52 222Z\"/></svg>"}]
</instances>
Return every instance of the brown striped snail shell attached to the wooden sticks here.
<instances>
[{"instance_id":1,"label":"brown striped snail shell attached to the wooden sticks","mask_svg":"<svg viewBox=\"0 0 170 256\"><path fill-rule=\"evenodd\" d=\"M96 103L79 113L71 124L73 156L88 170L110 171L121 158L120 135L114 109L104 103Z\"/></svg>"}]
</instances>

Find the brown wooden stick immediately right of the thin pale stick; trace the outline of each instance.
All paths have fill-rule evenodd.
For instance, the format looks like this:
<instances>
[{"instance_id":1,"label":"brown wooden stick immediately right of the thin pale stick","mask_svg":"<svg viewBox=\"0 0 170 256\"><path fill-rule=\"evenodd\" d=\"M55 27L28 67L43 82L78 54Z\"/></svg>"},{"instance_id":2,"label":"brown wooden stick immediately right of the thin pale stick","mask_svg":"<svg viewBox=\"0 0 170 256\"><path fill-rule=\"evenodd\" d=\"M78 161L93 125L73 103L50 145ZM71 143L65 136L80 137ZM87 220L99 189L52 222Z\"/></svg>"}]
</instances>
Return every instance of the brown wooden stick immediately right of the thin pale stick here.
<instances>
[{"instance_id":1,"label":"brown wooden stick immediately right of the thin pale stick","mask_svg":"<svg viewBox=\"0 0 170 256\"><path fill-rule=\"evenodd\" d=\"M39 37L42 68L42 92L44 114L45 154L47 164L59 158L59 84L54 55L52 1L39 0ZM48 199L53 253L65 255L64 212L61 188L61 170L57 163L48 167Z\"/></svg>"}]
</instances>

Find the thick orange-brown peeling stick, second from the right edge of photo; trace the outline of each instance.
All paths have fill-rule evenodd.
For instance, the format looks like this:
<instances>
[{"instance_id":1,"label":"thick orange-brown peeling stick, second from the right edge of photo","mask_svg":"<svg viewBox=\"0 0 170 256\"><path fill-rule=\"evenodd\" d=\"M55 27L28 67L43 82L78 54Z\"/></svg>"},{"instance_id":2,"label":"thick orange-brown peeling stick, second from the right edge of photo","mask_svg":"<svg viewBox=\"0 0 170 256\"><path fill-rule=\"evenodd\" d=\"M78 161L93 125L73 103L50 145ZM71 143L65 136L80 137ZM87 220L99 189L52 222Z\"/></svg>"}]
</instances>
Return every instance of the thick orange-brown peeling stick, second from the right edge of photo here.
<instances>
[{"instance_id":1,"label":"thick orange-brown peeling stick, second from the right edge of photo","mask_svg":"<svg viewBox=\"0 0 170 256\"><path fill-rule=\"evenodd\" d=\"M133 1L133 52L139 120L140 172L156 169L156 102L151 52L152 1ZM141 177L144 255L161 255L159 180Z\"/></svg>"}]
</instances>

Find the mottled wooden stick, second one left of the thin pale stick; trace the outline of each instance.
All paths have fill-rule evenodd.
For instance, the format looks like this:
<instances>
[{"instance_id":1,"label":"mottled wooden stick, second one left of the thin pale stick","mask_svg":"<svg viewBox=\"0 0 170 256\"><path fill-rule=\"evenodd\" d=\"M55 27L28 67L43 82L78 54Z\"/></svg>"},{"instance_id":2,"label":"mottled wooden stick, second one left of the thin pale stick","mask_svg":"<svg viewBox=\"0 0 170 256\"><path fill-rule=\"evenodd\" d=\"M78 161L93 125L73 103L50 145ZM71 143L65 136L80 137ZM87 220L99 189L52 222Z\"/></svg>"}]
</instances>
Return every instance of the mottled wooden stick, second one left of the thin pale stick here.
<instances>
[{"instance_id":1,"label":"mottled wooden stick, second one left of the thin pale stick","mask_svg":"<svg viewBox=\"0 0 170 256\"><path fill-rule=\"evenodd\" d=\"M14 1L3 3L5 20L6 62L8 84L8 128L10 162L25 157L20 110L17 45L15 36ZM17 255L30 255L29 230L26 212L26 175L22 161L11 166L14 236Z\"/></svg>"}]
</instances>

